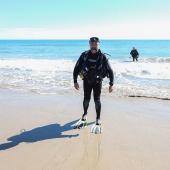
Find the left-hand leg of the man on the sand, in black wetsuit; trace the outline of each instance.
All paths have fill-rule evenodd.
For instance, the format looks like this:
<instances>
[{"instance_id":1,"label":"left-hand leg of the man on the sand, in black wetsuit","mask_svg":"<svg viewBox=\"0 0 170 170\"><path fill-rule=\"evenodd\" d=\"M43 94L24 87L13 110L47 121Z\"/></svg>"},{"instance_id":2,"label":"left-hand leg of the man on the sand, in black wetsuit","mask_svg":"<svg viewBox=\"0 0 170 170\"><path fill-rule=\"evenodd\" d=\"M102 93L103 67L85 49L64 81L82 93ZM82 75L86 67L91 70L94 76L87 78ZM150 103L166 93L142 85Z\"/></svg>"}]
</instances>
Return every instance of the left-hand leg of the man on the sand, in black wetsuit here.
<instances>
[{"instance_id":1,"label":"left-hand leg of the man on the sand, in black wetsuit","mask_svg":"<svg viewBox=\"0 0 170 170\"><path fill-rule=\"evenodd\" d=\"M86 80L84 80L83 89L84 89L84 100L83 100L84 114L82 116L82 120L86 120L87 110L88 110L89 102L91 99L92 86Z\"/></svg>"}]
</instances>

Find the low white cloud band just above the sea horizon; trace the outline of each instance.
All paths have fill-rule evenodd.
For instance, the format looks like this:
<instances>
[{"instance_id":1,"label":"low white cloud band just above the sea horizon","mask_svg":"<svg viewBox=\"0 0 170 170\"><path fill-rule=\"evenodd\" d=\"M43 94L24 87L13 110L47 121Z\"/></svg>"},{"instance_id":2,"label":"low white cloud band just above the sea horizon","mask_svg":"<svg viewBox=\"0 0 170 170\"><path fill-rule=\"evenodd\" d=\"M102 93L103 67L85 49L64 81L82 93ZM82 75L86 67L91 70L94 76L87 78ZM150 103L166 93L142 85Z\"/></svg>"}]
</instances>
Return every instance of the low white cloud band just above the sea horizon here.
<instances>
[{"instance_id":1,"label":"low white cloud band just above the sea horizon","mask_svg":"<svg viewBox=\"0 0 170 170\"><path fill-rule=\"evenodd\" d=\"M108 23L75 28L14 28L0 29L0 39L170 39L170 23L166 20Z\"/></svg>"}]
</instances>

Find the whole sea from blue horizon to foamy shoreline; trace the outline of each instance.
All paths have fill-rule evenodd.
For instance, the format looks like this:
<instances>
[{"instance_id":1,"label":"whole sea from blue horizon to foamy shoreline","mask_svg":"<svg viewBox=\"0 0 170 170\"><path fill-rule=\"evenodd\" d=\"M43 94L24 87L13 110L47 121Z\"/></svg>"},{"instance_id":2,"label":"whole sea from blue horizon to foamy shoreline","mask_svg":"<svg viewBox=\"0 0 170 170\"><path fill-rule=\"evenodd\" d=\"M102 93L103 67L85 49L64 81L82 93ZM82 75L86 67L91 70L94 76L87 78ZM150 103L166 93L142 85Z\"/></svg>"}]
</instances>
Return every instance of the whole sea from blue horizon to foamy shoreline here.
<instances>
[{"instance_id":1,"label":"whole sea from blue horizon to foamy shoreline","mask_svg":"<svg viewBox=\"0 0 170 170\"><path fill-rule=\"evenodd\" d=\"M133 47L138 62L132 62ZM82 95L73 87L72 72L88 49L88 40L0 40L0 88ZM101 40L100 49L110 55L115 75L114 93L108 93L106 78L102 95L170 99L170 40Z\"/></svg>"}]
</instances>

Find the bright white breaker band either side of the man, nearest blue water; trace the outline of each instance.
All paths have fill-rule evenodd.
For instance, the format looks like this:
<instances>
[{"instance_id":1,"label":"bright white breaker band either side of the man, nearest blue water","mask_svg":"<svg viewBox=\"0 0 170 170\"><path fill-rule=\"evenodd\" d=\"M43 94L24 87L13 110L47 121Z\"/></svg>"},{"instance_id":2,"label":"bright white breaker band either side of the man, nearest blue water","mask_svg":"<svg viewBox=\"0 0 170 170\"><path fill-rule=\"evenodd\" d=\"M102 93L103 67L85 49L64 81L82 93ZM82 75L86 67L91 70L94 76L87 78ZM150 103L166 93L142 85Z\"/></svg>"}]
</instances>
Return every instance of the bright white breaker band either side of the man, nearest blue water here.
<instances>
[{"instance_id":1,"label":"bright white breaker band either side of the man, nearest blue water","mask_svg":"<svg viewBox=\"0 0 170 170\"><path fill-rule=\"evenodd\" d=\"M156 60L156 59L154 59ZM167 59L168 60L168 59ZM169 59L170 60L170 59ZM147 59L149 61L149 59ZM170 63L167 62L118 62L110 60L115 74L148 79L170 79ZM73 60L1 59L2 70L23 70L39 72L72 72Z\"/></svg>"}]
</instances>

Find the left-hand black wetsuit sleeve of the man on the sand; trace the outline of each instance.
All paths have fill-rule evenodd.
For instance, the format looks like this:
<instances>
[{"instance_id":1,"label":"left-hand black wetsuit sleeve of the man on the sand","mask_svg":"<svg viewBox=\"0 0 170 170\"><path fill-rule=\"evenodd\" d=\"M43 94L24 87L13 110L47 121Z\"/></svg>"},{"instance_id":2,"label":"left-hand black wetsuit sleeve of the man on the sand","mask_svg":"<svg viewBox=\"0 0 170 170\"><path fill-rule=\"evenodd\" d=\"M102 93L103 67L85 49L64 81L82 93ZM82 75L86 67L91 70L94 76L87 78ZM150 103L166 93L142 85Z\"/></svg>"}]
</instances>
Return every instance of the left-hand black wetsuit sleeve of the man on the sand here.
<instances>
[{"instance_id":1,"label":"left-hand black wetsuit sleeve of the man on the sand","mask_svg":"<svg viewBox=\"0 0 170 170\"><path fill-rule=\"evenodd\" d=\"M81 56L79 57L76 65L74 67L74 71L73 71L74 83L77 83L77 77L78 77L78 74L79 74L79 72L81 70L82 64L83 64L83 54L81 54Z\"/></svg>"}]
</instances>

